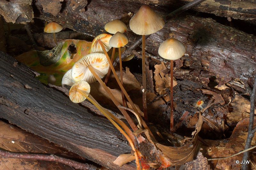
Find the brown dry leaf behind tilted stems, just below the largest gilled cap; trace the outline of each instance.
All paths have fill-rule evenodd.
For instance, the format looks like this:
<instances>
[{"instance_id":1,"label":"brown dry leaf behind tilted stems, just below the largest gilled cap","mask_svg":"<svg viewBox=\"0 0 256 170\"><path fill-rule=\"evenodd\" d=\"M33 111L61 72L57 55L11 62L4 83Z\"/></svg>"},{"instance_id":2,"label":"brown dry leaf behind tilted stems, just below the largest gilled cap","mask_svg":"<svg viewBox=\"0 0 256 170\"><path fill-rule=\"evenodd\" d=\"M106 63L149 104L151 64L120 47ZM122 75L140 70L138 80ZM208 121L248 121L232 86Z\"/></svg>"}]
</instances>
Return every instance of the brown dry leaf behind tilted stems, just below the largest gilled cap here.
<instances>
[{"instance_id":1,"label":"brown dry leaf behind tilted stems, just below the largest gilled cap","mask_svg":"<svg viewBox=\"0 0 256 170\"><path fill-rule=\"evenodd\" d=\"M108 93L100 86L99 82L91 83L90 86L91 86L90 94L96 101L104 105L108 105L113 108L116 108L116 105L112 102ZM113 96L115 96L116 100L120 103L120 105L123 105L121 91L118 89L110 89L110 91L112 92ZM127 102L126 104L128 108L132 109L132 106L129 102ZM143 116L144 114L140 110L139 106L135 104L135 107L140 112L140 115Z\"/></svg>"}]
</instances>

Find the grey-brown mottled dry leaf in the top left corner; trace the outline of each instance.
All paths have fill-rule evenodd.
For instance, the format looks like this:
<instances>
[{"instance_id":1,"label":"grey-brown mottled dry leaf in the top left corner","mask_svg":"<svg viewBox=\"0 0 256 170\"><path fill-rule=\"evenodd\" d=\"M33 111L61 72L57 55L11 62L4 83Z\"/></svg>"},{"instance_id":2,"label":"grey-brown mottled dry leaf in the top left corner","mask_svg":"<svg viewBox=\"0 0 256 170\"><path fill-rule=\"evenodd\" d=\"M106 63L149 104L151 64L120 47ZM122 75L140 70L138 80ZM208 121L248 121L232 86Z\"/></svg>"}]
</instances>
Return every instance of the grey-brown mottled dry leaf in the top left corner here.
<instances>
[{"instance_id":1,"label":"grey-brown mottled dry leaf in the top left corner","mask_svg":"<svg viewBox=\"0 0 256 170\"><path fill-rule=\"evenodd\" d=\"M6 22L29 22L34 18L31 4L32 0L0 1L0 15Z\"/></svg>"}]
</instances>

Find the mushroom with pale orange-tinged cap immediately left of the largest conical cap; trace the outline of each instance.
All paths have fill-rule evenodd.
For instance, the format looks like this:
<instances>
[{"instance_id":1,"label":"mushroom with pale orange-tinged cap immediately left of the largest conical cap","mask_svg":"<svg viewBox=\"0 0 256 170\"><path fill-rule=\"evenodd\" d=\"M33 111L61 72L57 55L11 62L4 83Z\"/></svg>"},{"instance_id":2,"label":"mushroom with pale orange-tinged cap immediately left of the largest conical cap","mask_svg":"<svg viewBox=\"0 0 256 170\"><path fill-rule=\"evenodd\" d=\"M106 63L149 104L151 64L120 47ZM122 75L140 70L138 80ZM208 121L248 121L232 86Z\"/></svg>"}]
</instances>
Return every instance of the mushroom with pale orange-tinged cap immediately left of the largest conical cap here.
<instances>
[{"instance_id":1,"label":"mushroom with pale orange-tinged cap immediately left of the largest conical cap","mask_svg":"<svg viewBox=\"0 0 256 170\"><path fill-rule=\"evenodd\" d=\"M127 31L127 26L122 21L120 21L118 19L115 19L113 21L108 22L105 25L104 29L107 32L109 32L110 34L115 34L116 32L124 33L124 32ZM113 61L114 61L115 51L116 51L116 48L113 47L112 55L111 55L111 63L113 63ZM106 76L105 81L104 81L105 84L107 84L107 82L108 82L110 72L111 72L111 68L109 67L107 76Z\"/></svg>"}]
</instances>

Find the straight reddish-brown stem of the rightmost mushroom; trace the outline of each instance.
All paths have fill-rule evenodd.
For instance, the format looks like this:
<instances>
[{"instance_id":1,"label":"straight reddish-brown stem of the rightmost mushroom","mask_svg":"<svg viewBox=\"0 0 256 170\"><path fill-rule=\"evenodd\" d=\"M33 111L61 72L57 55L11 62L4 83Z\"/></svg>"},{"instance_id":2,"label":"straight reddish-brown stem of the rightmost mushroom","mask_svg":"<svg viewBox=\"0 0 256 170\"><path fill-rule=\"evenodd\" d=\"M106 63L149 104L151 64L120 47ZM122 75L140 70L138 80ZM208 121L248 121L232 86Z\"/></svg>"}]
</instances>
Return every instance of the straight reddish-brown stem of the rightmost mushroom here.
<instances>
[{"instance_id":1,"label":"straight reddish-brown stem of the rightmost mushroom","mask_svg":"<svg viewBox=\"0 0 256 170\"><path fill-rule=\"evenodd\" d=\"M171 117L170 117L170 131L173 130L173 60L170 60L170 69L171 69L171 86L170 86L170 95L171 95Z\"/></svg>"}]
</instances>

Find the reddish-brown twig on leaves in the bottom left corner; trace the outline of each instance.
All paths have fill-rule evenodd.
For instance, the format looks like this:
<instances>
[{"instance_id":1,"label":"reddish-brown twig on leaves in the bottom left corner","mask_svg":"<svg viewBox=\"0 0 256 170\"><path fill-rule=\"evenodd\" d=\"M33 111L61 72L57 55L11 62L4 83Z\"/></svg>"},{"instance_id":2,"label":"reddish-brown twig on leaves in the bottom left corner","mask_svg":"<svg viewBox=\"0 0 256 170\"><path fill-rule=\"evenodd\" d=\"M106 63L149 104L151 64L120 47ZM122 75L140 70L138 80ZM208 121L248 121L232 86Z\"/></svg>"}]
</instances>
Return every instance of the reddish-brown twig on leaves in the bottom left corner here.
<instances>
[{"instance_id":1,"label":"reddish-brown twig on leaves in the bottom left corner","mask_svg":"<svg viewBox=\"0 0 256 170\"><path fill-rule=\"evenodd\" d=\"M7 152L0 149L0 155L4 158L17 158L17 159L36 159L36 160L46 160L59 162L65 165L72 166L76 169L83 170L96 170L97 167L89 164L84 164L76 162L71 159L62 158L56 155L44 155L44 154L31 154L31 153L16 153L16 152Z\"/></svg>"}]
</instances>

